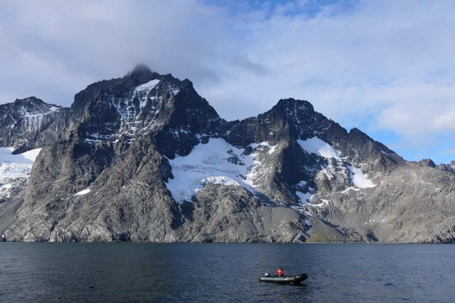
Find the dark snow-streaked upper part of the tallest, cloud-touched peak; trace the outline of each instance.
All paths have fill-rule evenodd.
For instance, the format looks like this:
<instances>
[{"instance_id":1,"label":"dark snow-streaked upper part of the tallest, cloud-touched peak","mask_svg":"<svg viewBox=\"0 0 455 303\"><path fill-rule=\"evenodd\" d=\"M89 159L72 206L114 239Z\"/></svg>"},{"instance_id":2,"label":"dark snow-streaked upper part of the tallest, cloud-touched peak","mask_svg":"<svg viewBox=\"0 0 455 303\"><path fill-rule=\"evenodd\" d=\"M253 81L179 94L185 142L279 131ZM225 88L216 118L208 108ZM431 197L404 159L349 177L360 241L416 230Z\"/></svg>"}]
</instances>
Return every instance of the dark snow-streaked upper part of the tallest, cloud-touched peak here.
<instances>
[{"instance_id":1,"label":"dark snow-streaked upper part of the tallest, cloud-touched peak","mask_svg":"<svg viewBox=\"0 0 455 303\"><path fill-rule=\"evenodd\" d=\"M222 119L188 80L138 65L123 78L90 84L75 95L69 131L87 142L153 134L161 153L188 154Z\"/></svg>"}]
</instances>

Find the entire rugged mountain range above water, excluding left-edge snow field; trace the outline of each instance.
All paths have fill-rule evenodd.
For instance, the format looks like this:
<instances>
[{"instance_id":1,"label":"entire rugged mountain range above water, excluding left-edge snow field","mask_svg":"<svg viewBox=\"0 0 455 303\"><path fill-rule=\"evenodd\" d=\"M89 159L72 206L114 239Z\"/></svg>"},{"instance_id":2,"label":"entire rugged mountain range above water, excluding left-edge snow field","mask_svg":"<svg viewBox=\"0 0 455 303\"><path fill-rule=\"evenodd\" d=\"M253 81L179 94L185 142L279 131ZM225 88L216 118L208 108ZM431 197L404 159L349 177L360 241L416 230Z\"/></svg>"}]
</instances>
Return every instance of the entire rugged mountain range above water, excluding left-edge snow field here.
<instances>
[{"instance_id":1,"label":"entire rugged mountain range above water, excluding left-edge snow field","mask_svg":"<svg viewBox=\"0 0 455 303\"><path fill-rule=\"evenodd\" d=\"M188 79L138 66L70 109L3 107L2 145L42 147L0 203L9 241L455 241L453 163L406 162L306 101L228 122Z\"/></svg>"}]
</instances>

